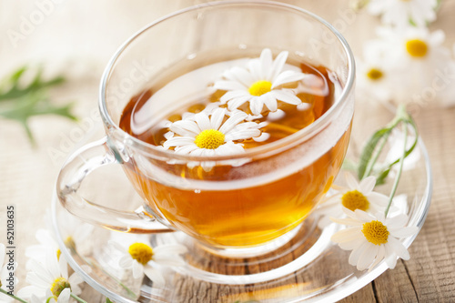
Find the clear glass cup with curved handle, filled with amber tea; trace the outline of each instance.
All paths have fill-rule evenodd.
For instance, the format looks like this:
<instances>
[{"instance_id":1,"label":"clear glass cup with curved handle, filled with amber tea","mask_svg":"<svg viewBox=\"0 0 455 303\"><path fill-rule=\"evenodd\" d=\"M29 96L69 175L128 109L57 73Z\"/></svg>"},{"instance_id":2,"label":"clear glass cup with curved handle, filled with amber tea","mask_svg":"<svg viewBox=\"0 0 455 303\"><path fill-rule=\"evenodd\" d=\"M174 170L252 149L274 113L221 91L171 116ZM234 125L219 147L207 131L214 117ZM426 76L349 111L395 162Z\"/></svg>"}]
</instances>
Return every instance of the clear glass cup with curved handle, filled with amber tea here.
<instances>
[{"instance_id":1,"label":"clear glass cup with curved handle, filled with amber tea","mask_svg":"<svg viewBox=\"0 0 455 303\"><path fill-rule=\"evenodd\" d=\"M241 155L189 157L119 127L130 99L161 81L171 66L255 57L266 47L275 56L286 50L294 61L324 66L339 83L329 110L297 133ZM72 214L110 229L180 230L220 255L264 254L288 241L337 176L349 143L354 75L345 39L319 16L292 5L220 1L167 15L126 41L106 67L99 96L106 136L69 157L57 180L58 197ZM180 101L157 98L150 103L152 118L182 106ZM188 173L187 163L204 161L216 163L211 177ZM243 164L233 167L233 161ZM144 199L136 212L81 195L86 176L111 164L124 168ZM217 173L223 169L232 174Z\"/></svg>"}]
</instances>

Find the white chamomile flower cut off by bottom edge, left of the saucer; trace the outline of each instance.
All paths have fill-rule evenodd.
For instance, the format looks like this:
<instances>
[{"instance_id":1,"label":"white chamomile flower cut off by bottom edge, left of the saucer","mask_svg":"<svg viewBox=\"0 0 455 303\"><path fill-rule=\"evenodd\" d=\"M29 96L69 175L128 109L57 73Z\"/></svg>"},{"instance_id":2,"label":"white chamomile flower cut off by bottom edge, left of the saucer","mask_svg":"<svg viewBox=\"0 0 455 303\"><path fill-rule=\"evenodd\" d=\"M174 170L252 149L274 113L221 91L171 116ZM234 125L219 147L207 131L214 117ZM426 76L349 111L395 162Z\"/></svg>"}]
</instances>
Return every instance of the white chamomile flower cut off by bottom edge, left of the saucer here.
<instances>
[{"instance_id":1,"label":"white chamomile flower cut off by bottom edge, left of the saucer","mask_svg":"<svg viewBox=\"0 0 455 303\"><path fill-rule=\"evenodd\" d=\"M30 286L20 289L17 296L20 298L47 298L50 293L57 302L67 303L70 293L79 295L81 288L79 284L83 282L76 273L68 278L68 266L65 258L57 259L53 250L49 249L44 262L32 260L31 271L27 273L26 281ZM64 290L69 288L70 291Z\"/></svg>"}]
</instances>

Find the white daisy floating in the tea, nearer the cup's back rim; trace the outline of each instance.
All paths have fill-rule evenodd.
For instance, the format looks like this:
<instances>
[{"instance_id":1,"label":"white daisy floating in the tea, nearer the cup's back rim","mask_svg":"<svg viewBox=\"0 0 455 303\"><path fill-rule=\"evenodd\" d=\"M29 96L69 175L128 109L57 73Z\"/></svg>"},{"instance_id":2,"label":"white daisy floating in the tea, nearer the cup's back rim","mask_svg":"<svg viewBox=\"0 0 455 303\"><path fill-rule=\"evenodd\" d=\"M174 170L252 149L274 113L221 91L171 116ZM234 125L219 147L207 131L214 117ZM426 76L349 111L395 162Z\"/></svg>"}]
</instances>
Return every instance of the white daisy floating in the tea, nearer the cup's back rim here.
<instances>
[{"instance_id":1,"label":"white daisy floating in the tea, nearer the cup's back rim","mask_svg":"<svg viewBox=\"0 0 455 303\"><path fill-rule=\"evenodd\" d=\"M248 67L234 66L224 74L224 80L215 82L214 87L227 93L220 98L229 110L249 102L253 115L260 115L263 106L274 112L278 100L299 105L302 101L291 89L280 88L285 84L302 80L306 75L285 66L288 52L283 51L273 60L270 49L265 48L259 58L250 59ZM286 69L286 70L284 70Z\"/></svg>"}]
</instances>

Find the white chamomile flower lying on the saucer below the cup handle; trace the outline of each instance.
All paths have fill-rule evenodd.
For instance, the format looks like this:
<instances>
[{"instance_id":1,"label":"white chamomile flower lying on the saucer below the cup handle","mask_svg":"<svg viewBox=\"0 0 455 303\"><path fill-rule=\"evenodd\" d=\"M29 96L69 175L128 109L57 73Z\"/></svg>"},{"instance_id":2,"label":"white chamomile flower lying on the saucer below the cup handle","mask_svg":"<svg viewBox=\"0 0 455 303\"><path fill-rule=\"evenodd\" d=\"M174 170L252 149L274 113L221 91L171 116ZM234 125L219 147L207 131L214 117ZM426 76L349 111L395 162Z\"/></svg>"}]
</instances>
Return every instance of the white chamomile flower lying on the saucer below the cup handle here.
<instances>
[{"instance_id":1,"label":"white chamomile flower lying on the saucer below the cup handle","mask_svg":"<svg viewBox=\"0 0 455 303\"><path fill-rule=\"evenodd\" d=\"M145 238L143 238L145 239ZM187 252L187 247L179 244L167 244L151 247L147 241L135 240L116 242L110 240L109 246L114 248L122 256L119 258L120 268L130 269L133 278L142 278L144 274L157 286L163 286L165 278L160 272L160 267L181 267L185 265L179 256Z\"/></svg>"}]
</instances>

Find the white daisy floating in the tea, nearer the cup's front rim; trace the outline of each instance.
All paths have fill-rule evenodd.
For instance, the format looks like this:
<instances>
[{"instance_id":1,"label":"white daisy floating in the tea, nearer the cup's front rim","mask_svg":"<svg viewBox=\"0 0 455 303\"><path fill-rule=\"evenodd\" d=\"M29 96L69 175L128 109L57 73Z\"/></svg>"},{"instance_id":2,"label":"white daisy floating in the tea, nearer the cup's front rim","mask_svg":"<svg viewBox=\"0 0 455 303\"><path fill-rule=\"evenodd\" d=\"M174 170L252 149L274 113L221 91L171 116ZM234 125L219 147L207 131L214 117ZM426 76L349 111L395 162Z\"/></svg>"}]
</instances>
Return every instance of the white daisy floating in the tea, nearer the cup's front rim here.
<instances>
[{"instance_id":1,"label":"white daisy floating in the tea, nearer the cup's front rim","mask_svg":"<svg viewBox=\"0 0 455 303\"><path fill-rule=\"evenodd\" d=\"M226 108L217 108L211 114L197 113L169 125L165 148L174 147L177 154L190 156L228 156L245 152L243 146L235 143L260 136L263 123L245 122L248 115L242 111L229 113ZM177 135L177 136L176 136ZM197 163L191 164L196 166ZM188 164L189 166L189 164ZM191 167L189 166L189 167ZM201 166L209 171L213 161L204 161Z\"/></svg>"}]
</instances>

